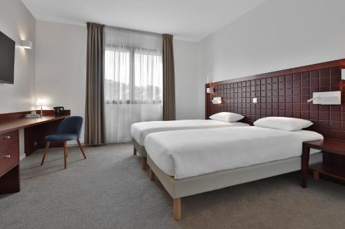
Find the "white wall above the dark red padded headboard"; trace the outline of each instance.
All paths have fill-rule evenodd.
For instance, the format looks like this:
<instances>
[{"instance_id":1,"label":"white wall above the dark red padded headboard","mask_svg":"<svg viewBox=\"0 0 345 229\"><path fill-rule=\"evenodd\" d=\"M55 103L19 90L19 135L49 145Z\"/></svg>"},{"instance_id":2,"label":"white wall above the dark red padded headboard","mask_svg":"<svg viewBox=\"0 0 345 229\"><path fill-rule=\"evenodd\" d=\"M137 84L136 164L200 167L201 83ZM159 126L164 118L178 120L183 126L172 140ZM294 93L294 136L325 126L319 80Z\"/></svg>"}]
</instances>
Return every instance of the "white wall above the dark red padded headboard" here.
<instances>
[{"instance_id":1,"label":"white wall above the dark red padded headboard","mask_svg":"<svg viewBox=\"0 0 345 229\"><path fill-rule=\"evenodd\" d=\"M345 57L345 1L267 0L198 44L198 98L210 81ZM204 99L198 102L204 113Z\"/></svg>"}]
</instances>

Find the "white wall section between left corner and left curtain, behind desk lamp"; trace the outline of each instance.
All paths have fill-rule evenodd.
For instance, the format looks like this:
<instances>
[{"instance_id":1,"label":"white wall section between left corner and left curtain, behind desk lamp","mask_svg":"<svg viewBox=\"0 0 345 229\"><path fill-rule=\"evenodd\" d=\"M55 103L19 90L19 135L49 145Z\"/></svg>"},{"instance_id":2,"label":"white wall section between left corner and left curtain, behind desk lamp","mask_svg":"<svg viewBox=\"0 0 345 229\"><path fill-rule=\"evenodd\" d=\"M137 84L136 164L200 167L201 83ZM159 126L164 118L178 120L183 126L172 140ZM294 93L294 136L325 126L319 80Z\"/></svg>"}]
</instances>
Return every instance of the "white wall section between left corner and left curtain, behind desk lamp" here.
<instances>
[{"instance_id":1,"label":"white wall section between left corner and left curtain, behind desk lamp","mask_svg":"<svg viewBox=\"0 0 345 229\"><path fill-rule=\"evenodd\" d=\"M85 95L86 26L37 21L36 98L84 117Z\"/></svg>"}]
</instances>

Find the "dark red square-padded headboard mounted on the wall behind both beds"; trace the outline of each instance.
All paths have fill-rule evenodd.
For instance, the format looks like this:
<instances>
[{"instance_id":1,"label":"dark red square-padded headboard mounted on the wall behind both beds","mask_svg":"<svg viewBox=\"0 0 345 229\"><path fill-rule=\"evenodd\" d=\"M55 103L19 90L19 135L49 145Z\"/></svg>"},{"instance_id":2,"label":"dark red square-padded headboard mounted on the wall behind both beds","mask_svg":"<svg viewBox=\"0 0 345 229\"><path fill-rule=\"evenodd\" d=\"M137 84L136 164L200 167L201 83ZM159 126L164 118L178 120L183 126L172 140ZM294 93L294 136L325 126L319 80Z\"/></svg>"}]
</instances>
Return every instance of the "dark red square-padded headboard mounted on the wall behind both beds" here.
<instances>
[{"instance_id":1,"label":"dark red square-padded headboard mounted on the wall behind both beds","mask_svg":"<svg viewBox=\"0 0 345 229\"><path fill-rule=\"evenodd\" d=\"M249 123L266 116L304 118L311 120L311 129L325 138L345 140L343 67L345 59L208 83L206 88L215 87L215 94L208 94L205 89L205 118L221 111L241 113ZM342 105L306 102L316 91L342 91ZM213 105L211 98L217 96L223 102ZM253 98L257 98L257 103L253 103Z\"/></svg>"}]
</instances>

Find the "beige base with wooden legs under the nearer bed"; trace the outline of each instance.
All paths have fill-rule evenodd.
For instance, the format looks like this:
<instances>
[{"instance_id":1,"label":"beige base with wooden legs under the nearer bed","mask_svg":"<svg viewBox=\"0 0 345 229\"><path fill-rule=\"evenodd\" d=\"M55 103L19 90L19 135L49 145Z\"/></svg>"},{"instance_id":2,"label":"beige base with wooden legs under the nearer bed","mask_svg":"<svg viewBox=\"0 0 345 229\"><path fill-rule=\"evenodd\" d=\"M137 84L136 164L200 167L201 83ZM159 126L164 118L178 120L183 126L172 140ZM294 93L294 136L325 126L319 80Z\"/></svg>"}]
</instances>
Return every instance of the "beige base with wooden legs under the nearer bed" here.
<instances>
[{"instance_id":1,"label":"beige base with wooden legs under the nearer bed","mask_svg":"<svg viewBox=\"0 0 345 229\"><path fill-rule=\"evenodd\" d=\"M196 177L174 179L174 177L166 175L166 173L161 171L149 155L147 156L147 162L150 166L150 180L154 180L157 177L173 199L173 216L175 220L181 219L181 197L188 197L228 186L253 182L257 179L299 171L302 163L301 157L291 157L286 160L233 168L226 171L198 175ZM309 163L316 164L319 162L322 162L322 153L312 154Z\"/></svg>"}]
</instances>

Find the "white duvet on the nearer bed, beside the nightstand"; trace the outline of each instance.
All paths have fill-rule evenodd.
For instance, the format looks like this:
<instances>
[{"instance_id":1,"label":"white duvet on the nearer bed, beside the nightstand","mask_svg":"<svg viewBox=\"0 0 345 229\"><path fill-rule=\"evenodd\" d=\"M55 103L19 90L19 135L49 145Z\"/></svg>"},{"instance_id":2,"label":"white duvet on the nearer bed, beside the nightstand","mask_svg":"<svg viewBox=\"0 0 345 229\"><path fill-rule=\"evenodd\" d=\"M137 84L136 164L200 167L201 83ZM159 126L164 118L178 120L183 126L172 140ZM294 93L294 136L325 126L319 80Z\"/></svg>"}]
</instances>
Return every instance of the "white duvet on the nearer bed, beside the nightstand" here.
<instances>
[{"instance_id":1,"label":"white duvet on the nearer bed, beside the nightstand","mask_svg":"<svg viewBox=\"0 0 345 229\"><path fill-rule=\"evenodd\" d=\"M236 127L150 133L144 146L161 171L183 179L301 156L302 142L321 139L313 131Z\"/></svg>"}]
</instances>

